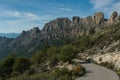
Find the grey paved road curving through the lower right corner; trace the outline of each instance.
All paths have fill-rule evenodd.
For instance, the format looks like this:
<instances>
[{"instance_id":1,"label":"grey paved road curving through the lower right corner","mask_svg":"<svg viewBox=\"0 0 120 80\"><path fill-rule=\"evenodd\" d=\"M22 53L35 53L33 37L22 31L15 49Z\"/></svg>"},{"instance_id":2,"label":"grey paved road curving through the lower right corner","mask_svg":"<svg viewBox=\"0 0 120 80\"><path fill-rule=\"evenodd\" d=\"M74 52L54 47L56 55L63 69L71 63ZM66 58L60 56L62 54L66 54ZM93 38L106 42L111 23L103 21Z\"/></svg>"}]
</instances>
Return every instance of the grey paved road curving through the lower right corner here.
<instances>
[{"instance_id":1,"label":"grey paved road curving through the lower right corner","mask_svg":"<svg viewBox=\"0 0 120 80\"><path fill-rule=\"evenodd\" d=\"M92 64L82 63L86 68L87 73L76 80L119 80L119 77L112 70Z\"/></svg>"}]
</instances>

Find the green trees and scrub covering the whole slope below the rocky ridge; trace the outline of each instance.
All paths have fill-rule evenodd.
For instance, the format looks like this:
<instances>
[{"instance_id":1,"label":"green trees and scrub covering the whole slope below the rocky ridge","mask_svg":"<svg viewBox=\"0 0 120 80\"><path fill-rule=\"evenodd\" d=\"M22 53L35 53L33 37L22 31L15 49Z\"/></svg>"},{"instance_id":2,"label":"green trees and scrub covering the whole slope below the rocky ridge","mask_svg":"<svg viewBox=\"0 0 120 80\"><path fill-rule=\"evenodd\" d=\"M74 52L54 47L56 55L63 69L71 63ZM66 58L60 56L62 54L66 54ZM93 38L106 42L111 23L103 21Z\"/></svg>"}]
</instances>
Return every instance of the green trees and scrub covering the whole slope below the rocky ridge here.
<instances>
[{"instance_id":1,"label":"green trees and scrub covering the whole slope below the rocky ridge","mask_svg":"<svg viewBox=\"0 0 120 80\"><path fill-rule=\"evenodd\" d=\"M120 42L110 46L113 42L120 39L120 23L109 27L102 27L97 32L93 29L90 34L80 35L77 39L64 39L61 45L54 44L43 45L40 50L36 48L36 53L32 57L8 57L0 64L0 79L1 80L72 80L85 74L85 68L81 65L76 65L72 59L77 57L78 53L95 54L101 51L104 53L104 48L110 47L107 52L120 51ZM21 47L22 49L22 47ZM23 49L24 50L24 49ZM23 53L28 55L27 53ZM31 55L31 54L29 54ZM73 70L69 70L63 66L65 63L73 64ZM101 63L113 69L111 63Z\"/></svg>"}]
</instances>

